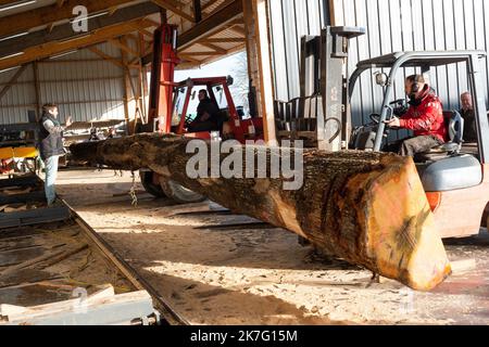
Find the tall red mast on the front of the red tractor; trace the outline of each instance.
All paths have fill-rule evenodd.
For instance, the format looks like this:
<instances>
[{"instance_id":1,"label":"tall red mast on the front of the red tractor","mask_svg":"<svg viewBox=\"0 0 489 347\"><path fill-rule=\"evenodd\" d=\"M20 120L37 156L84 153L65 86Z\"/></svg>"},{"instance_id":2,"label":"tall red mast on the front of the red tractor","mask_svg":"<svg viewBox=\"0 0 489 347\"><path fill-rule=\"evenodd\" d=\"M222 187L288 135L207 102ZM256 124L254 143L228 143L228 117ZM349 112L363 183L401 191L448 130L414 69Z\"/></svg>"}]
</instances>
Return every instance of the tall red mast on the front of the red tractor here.
<instances>
[{"instance_id":1,"label":"tall red mast on the front of the red tractor","mask_svg":"<svg viewBox=\"0 0 489 347\"><path fill-rule=\"evenodd\" d=\"M149 95L148 124L159 120L159 131L171 132L173 112L173 89L177 56L178 27L162 24L154 30L153 63Z\"/></svg>"}]
</instances>

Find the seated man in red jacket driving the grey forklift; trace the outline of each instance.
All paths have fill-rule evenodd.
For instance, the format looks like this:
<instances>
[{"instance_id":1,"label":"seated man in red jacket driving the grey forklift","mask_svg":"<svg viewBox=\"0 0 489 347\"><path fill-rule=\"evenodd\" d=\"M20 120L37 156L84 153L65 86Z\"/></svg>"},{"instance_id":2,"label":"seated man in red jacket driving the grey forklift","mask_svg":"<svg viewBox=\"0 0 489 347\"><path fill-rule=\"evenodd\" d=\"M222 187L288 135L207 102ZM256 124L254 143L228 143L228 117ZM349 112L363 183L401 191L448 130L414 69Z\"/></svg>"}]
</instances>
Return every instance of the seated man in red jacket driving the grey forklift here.
<instances>
[{"instance_id":1,"label":"seated man in red jacket driving the grey forklift","mask_svg":"<svg viewBox=\"0 0 489 347\"><path fill-rule=\"evenodd\" d=\"M404 87L410 97L410 107L402 117L393 117L386 124L391 128L413 130L414 137L398 141L387 150L403 156L414 156L443 144L448 136L443 106L423 75L409 76Z\"/></svg>"}]
</instances>

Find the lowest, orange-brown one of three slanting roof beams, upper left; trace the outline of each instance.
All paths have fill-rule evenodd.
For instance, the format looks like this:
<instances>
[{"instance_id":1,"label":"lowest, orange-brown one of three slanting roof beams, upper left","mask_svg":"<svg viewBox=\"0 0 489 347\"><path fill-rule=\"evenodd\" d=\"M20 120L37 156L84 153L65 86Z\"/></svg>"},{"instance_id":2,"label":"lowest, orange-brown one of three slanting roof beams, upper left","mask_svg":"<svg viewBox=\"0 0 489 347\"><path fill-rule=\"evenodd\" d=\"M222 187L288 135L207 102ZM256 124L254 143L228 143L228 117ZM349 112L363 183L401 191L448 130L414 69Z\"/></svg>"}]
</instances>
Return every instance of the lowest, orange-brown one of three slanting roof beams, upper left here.
<instances>
[{"instance_id":1,"label":"lowest, orange-brown one of three slanting roof beams, upper left","mask_svg":"<svg viewBox=\"0 0 489 347\"><path fill-rule=\"evenodd\" d=\"M0 59L0 70L23 65L36 60L42 60L54 54L70 52L74 49L86 48L88 46L105 42L113 37L127 35L135 30L135 27L148 28L153 24L146 20L135 20L131 22L125 22L120 25L114 25L105 28L101 28L91 34L82 35L73 39L68 39L61 42L50 42L47 44L36 46L27 49L23 54L11 56L7 59Z\"/></svg>"}]
</instances>

